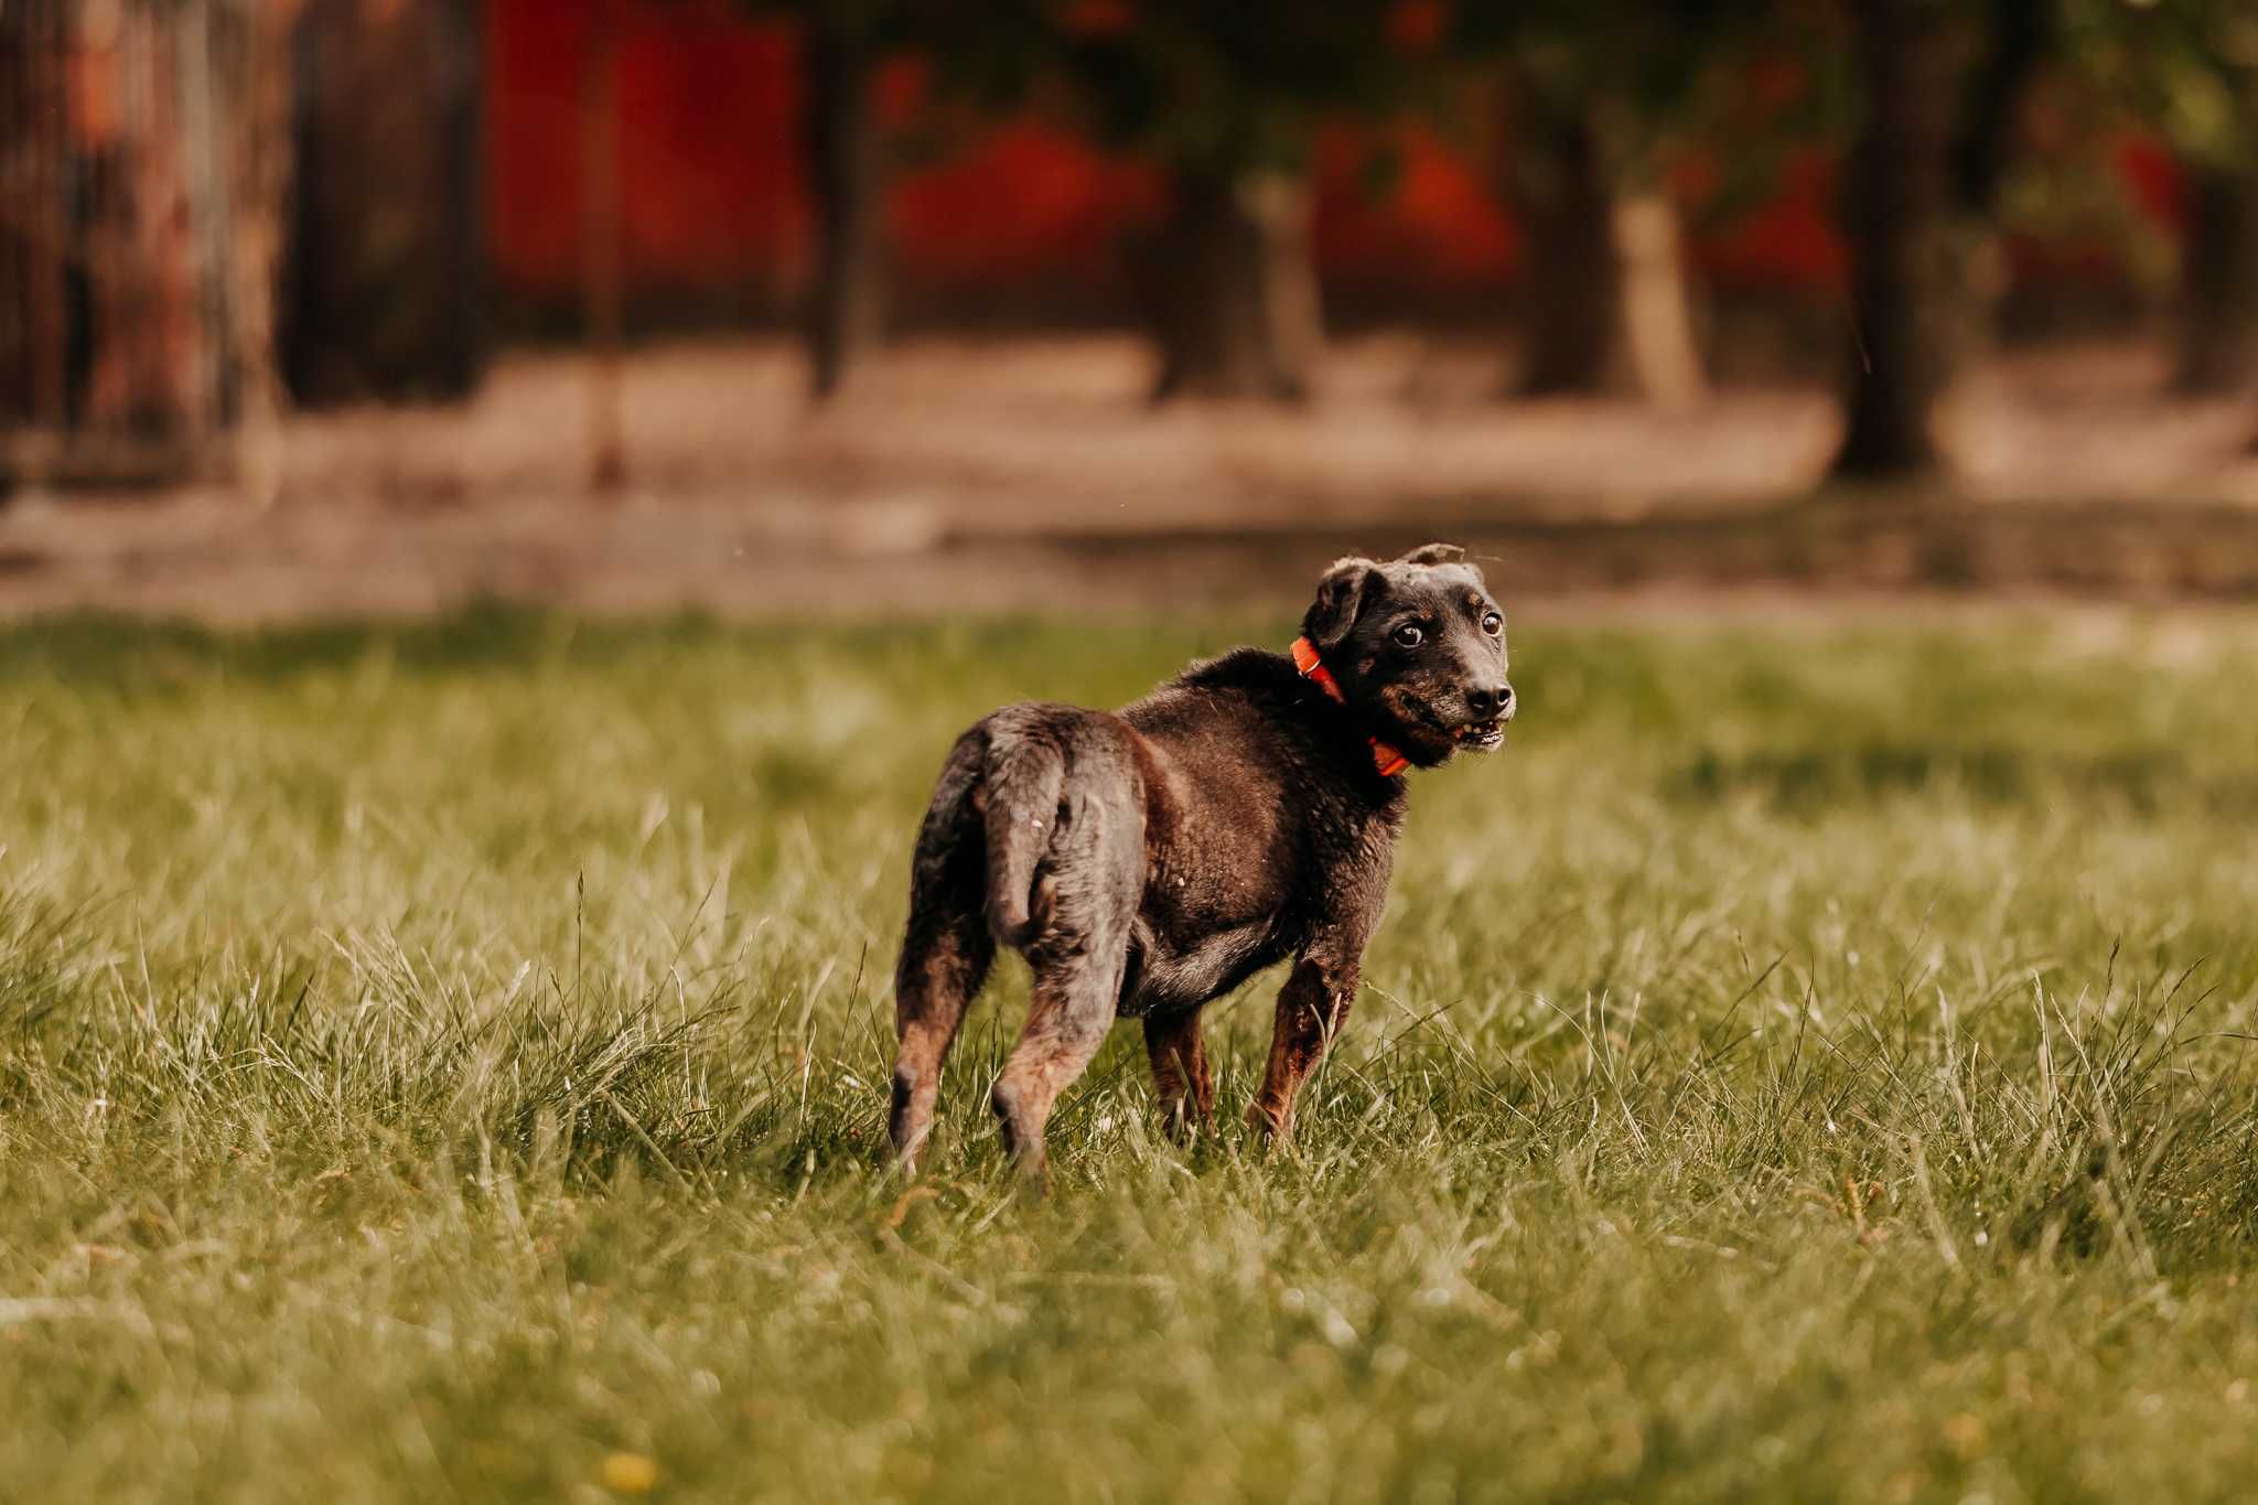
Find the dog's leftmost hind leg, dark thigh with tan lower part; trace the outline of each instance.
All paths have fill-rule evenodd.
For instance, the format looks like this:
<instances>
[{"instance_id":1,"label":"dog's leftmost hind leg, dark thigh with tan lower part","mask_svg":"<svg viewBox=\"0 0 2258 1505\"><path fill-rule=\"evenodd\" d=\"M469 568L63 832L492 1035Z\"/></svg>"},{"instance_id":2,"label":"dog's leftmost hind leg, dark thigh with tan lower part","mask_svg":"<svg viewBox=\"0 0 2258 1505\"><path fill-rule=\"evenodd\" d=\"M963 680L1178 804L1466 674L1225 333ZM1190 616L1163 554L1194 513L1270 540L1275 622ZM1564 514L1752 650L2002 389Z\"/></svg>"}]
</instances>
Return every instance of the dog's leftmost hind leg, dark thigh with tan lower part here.
<instances>
[{"instance_id":1,"label":"dog's leftmost hind leg, dark thigh with tan lower part","mask_svg":"<svg viewBox=\"0 0 2258 1505\"><path fill-rule=\"evenodd\" d=\"M942 1063L964 1022L964 1009L987 979L996 939L982 912L984 842L980 835L978 778L982 745L957 742L933 808L917 837L910 871L910 927L894 966L894 1101L887 1133L894 1158L917 1169L917 1151L933 1128L933 1099L942 1090Z\"/></svg>"}]
</instances>

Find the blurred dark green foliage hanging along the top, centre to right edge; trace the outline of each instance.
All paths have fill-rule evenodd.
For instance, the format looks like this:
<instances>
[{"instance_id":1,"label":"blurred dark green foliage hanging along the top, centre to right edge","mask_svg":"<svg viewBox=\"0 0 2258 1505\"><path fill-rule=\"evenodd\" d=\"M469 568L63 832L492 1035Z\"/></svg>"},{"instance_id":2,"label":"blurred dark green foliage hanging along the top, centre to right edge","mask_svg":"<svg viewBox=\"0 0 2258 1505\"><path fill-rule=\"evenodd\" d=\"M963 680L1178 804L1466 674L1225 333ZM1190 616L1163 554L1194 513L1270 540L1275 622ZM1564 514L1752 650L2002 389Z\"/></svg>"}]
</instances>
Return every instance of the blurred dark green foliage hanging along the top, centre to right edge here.
<instances>
[{"instance_id":1,"label":"blurred dark green foliage hanging along the top, centre to right edge","mask_svg":"<svg viewBox=\"0 0 2258 1505\"><path fill-rule=\"evenodd\" d=\"M1576 122L1612 190L1662 187L1716 228L1852 138L1849 23L1897 0L741 2L924 56L942 106L926 156L1027 108L1217 176L1301 169L1314 129L1339 117L1416 117L1468 156ZM2251 174L2258 0L1949 0L1935 14L1951 29L1960 221L2163 287L2172 185L2136 201L2125 144L2150 135L2181 169ZM1544 156L1520 149L1506 169L1547 171ZM1355 181L1375 201L1398 190L1395 133L1371 133Z\"/></svg>"}]
</instances>

